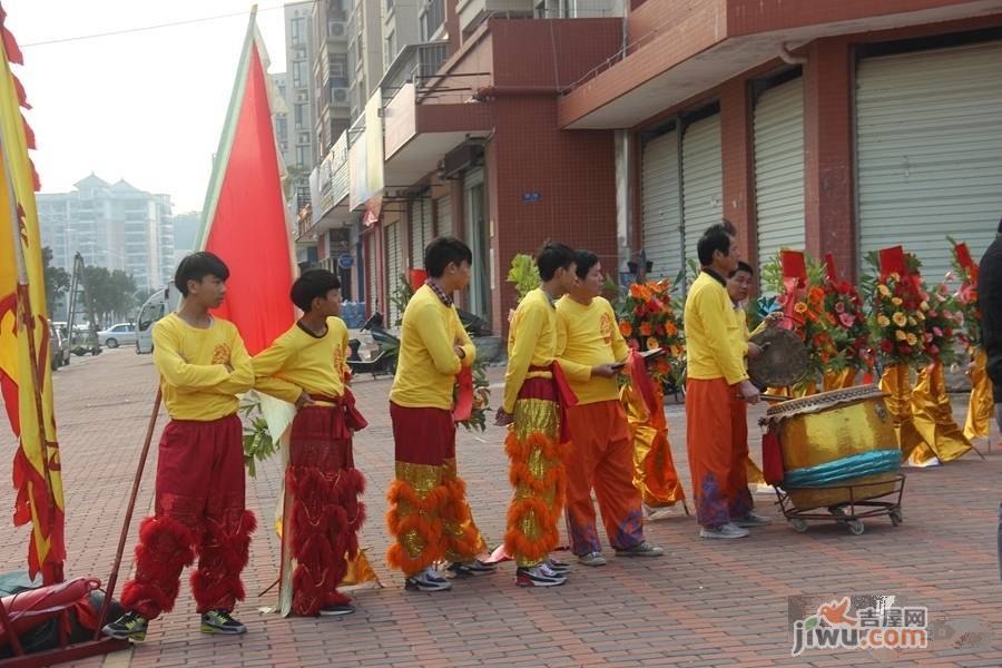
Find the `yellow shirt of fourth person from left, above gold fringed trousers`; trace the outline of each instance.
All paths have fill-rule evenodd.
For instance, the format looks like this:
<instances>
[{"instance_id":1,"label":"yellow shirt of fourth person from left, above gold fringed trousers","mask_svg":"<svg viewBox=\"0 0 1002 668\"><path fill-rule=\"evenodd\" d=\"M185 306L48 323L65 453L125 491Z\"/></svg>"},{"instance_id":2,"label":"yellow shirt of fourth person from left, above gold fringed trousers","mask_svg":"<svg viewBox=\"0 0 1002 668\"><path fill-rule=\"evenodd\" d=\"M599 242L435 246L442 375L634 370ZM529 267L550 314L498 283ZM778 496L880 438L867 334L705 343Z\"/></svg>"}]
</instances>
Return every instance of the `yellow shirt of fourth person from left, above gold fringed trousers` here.
<instances>
[{"instance_id":1,"label":"yellow shirt of fourth person from left, above gold fringed trousers","mask_svg":"<svg viewBox=\"0 0 1002 668\"><path fill-rule=\"evenodd\" d=\"M508 371L504 372L505 413L514 413L514 402L530 366L548 366L557 357L557 308L549 295L537 287L527 294L508 331Z\"/></svg>"}]
</instances>

